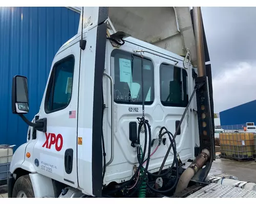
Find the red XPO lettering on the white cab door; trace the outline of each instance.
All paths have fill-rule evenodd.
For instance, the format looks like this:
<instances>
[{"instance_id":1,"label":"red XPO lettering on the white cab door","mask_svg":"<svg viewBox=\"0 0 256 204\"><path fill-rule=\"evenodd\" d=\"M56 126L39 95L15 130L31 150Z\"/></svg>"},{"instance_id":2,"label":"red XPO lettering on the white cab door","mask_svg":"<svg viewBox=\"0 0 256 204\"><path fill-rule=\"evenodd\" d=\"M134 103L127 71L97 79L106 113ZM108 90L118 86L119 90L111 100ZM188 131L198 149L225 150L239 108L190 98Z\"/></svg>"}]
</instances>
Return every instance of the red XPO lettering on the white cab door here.
<instances>
[{"instance_id":1,"label":"red XPO lettering on the white cab door","mask_svg":"<svg viewBox=\"0 0 256 204\"><path fill-rule=\"evenodd\" d=\"M42 147L46 147L51 149L52 145L55 146L56 151L60 151L63 145L63 138L61 134L57 136L54 133L45 133L46 134L46 141L42 145Z\"/></svg>"}]
</instances>

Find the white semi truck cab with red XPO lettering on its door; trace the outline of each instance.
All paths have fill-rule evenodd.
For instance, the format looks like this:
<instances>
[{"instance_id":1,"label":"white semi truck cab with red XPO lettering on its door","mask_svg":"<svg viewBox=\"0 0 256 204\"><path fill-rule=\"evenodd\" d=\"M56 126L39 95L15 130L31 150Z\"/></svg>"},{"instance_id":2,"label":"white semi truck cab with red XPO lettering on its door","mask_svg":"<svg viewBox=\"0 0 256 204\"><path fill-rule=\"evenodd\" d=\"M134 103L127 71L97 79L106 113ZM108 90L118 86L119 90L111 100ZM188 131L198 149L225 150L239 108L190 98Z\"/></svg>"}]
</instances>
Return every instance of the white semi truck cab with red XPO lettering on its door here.
<instances>
[{"instance_id":1,"label":"white semi truck cab with red XPO lettering on its door","mask_svg":"<svg viewBox=\"0 0 256 204\"><path fill-rule=\"evenodd\" d=\"M122 16L124 11L138 14L136 9L83 8L77 35L63 44L53 59L32 122L24 116L29 112L27 78L13 78L12 110L29 124L30 137L13 155L9 197L100 197L122 185L125 190L120 192L127 196L140 182L143 188L149 185L143 179L145 172L153 176L160 172L160 178L161 171L175 178L170 183L165 181L167 173L161 178L175 190L184 171L178 166L187 161L201 162L195 173L207 164L196 180L207 176L214 159L210 156L214 136L210 123L198 129L198 123L204 125L210 115L206 118L200 111L210 113L210 109L198 109L203 105L193 97L195 91L204 94L197 84L205 82L196 81L198 71L192 64L196 49L189 9L169 8L150 23L155 28L147 29L148 33L137 30L146 25L143 20L130 22L125 32L116 31L123 19L115 15ZM158 8L153 11L161 13ZM162 24L165 33L161 33L159 23L169 11L173 27L168 30L169 24ZM140 14L144 18L152 15ZM179 22L176 15L187 21ZM131 19L127 17L127 22ZM164 39L150 38L156 37L155 31ZM179 36L187 37L189 43ZM191 47L184 49L187 44ZM170 52L172 49L178 54ZM199 160L195 160L197 156ZM141 158L145 159L143 168ZM174 165L177 169L173 171Z\"/></svg>"}]
</instances>

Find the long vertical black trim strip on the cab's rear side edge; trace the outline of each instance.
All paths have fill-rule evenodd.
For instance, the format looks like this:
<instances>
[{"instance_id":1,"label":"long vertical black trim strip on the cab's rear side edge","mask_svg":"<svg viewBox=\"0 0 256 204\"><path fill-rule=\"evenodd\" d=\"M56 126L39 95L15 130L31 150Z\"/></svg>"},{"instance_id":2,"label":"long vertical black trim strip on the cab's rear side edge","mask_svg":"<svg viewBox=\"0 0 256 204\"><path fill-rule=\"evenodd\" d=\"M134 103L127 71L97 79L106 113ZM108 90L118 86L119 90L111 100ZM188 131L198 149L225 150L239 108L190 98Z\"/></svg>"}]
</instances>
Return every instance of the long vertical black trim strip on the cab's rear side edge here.
<instances>
[{"instance_id":1,"label":"long vertical black trim strip on the cab's rear side edge","mask_svg":"<svg viewBox=\"0 0 256 204\"><path fill-rule=\"evenodd\" d=\"M99 21L108 18L108 9L99 8ZM105 67L106 49L106 22L97 27L94 71L94 96L93 96L93 132L92 132L92 191L96 197L102 194L102 78Z\"/></svg>"}]
</instances>

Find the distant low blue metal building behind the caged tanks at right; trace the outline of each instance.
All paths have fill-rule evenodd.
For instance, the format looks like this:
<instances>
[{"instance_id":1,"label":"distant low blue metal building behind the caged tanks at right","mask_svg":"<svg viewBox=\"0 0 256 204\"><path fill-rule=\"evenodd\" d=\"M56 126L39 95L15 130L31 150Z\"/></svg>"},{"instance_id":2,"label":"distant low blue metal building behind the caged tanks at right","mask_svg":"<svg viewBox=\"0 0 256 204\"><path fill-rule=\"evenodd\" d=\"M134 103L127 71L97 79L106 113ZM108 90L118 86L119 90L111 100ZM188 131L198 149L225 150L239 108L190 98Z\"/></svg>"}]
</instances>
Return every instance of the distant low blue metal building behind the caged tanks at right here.
<instances>
[{"instance_id":1,"label":"distant low blue metal building behind the caged tanks at right","mask_svg":"<svg viewBox=\"0 0 256 204\"><path fill-rule=\"evenodd\" d=\"M221 126L224 129L242 129L246 122L256 124L256 100L220 112Z\"/></svg>"}]
</instances>

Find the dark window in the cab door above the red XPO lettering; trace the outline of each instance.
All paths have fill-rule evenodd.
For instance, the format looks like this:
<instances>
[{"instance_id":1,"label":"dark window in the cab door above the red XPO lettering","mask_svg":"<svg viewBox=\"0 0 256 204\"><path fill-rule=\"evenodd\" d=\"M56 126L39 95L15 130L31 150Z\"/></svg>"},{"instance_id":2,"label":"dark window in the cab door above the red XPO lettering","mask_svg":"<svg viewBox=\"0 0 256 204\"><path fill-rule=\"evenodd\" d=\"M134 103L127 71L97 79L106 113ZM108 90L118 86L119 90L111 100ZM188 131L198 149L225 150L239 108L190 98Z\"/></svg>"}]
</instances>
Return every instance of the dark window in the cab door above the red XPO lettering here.
<instances>
[{"instance_id":1,"label":"dark window in the cab door above the red XPO lettering","mask_svg":"<svg viewBox=\"0 0 256 204\"><path fill-rule=\"evenodd\" d=\"M74 56L69 56L53 66L46 93L46 113L65 109L69 105L72 94L74 65Z\"/></svg>"}]
</instances>

